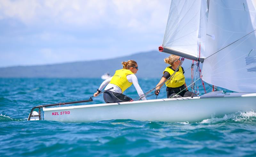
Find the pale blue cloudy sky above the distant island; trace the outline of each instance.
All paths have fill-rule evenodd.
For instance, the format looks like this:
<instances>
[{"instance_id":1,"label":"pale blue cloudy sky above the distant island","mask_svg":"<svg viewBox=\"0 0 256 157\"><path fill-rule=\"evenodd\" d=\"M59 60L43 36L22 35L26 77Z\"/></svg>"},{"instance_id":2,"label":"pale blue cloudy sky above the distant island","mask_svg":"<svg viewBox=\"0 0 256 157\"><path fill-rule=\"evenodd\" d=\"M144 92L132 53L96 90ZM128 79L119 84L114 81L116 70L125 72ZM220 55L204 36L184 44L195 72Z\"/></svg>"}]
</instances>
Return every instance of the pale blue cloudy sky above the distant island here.
<instances>
[{"instance_id":1,"label":"pale blue cloudy sky above the distant island","mask_svg":"<svg viewBox=\"0 0 256 157\"><path fill-rule=\"evenodd\" d=\"M158 50L171 1L0 0L0 67Z\"/></svg>"}]
</instances>

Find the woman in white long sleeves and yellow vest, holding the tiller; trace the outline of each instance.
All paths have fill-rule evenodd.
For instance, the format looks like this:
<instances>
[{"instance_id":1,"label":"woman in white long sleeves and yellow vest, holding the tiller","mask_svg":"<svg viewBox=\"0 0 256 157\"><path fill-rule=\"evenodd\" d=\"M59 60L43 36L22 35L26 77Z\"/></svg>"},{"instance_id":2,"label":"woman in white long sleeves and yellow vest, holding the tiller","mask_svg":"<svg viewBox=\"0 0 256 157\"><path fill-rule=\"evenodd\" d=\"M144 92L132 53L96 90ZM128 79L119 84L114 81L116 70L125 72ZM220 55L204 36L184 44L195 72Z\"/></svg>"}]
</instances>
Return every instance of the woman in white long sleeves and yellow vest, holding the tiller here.
<instances>
[{"instance_id":1,"label":"woman in white long sleeves and yellow vest, holding the tiller","mask_svg":"<svg viewBox=\"0 0 256 157\"><path fill-rule=\"evenodd\" d=\"M134 75L137 73L138 64L136 61L129 60L122 62L123 69L116 70L116 73L101 83L97 92L93 96L97 96L101 90L106 86L105 90L113 89L103 93L103 98L106 103L119 103L132 100L129 96L124 95L124 91L129 88L132 84L142 100L147 100L144 96L143 91L140 88L137 77Z\"/></svg>"}]
</instances>

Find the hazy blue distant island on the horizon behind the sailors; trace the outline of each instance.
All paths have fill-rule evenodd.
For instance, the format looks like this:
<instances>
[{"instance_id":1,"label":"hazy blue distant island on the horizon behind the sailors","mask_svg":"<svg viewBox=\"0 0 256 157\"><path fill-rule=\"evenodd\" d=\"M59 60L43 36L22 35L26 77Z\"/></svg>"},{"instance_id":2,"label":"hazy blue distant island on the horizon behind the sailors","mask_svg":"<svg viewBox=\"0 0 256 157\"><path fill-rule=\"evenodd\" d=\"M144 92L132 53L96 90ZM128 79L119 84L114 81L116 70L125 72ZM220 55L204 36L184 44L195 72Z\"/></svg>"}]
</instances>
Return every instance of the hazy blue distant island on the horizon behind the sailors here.
<instances>
[{"instance_id":1,"label":"hazy blue distant island on the horizon behind the sailors","mask_svg":"<svg viewBox=\"0 0 256 157\"><path fill-rule=\"evenodd\" d=\"M166 66L164 58L169 54L158 51L141 52L129 56L107 60L79 61L51 65L15 66L0 68L1 78L100 78L106 72L114 75L117 69L123 68L121 62L134 60L138 63L138 78L161 78ZM182 67L187 69L190 60L185 60ZM190 70L185 76L190 77Z\"/></svg>"}]
</instances>

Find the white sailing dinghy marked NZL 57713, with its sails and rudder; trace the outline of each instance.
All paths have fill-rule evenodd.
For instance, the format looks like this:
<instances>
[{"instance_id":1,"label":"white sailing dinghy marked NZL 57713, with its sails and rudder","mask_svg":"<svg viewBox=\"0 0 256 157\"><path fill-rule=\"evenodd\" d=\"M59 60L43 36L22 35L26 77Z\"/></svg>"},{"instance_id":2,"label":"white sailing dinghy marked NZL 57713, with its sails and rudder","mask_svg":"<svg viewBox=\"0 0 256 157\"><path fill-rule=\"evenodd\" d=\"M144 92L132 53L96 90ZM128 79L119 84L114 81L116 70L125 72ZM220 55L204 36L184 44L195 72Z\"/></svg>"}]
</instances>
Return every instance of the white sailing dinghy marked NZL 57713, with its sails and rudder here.
<instances>
[{"instance_id":1,"label":"white sailing dinghy marked NZL 57713, with its sails and rudder","mask_svg":"<svg viewBox=\"0 0 256 157\"><path fill-rule=\"evenodd\" d=\"M256 111L255 1L172 1L160 52L203 63L200 79L235 91L202 96L65 107L88 100L39 105L28 120L96 122L111 119L198 122ZM58 106L53 107L52 106ZM38 111L36 111L38 110ZM44 112L44 116L42 111Z\"/></svg>"}]
</instances>

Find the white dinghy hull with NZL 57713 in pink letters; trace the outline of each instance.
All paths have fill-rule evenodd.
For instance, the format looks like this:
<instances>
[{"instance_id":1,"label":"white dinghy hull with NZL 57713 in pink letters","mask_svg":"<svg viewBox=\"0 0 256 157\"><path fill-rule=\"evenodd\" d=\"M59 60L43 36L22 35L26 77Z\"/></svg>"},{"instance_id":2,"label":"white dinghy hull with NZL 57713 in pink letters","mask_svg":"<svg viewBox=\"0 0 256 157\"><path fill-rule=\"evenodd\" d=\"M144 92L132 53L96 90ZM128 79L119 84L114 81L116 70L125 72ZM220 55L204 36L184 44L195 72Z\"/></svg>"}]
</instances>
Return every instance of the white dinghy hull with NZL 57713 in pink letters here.
<instances>
[{"instance_id":1,"label":"white dinghy hull with NZL 57713 in pink letters","mask_svg":"<svg viewBox=\"0 0 256 157\"><path fill-rule=\"evenodd\" d=\"M43 108L44 120L59 122L97 122L111 119L139 121L197 122L212 115L219 117L237 111L256 111L256 93L220 91L201 97L157 99Z\"/></svg>"}]
</instances>

